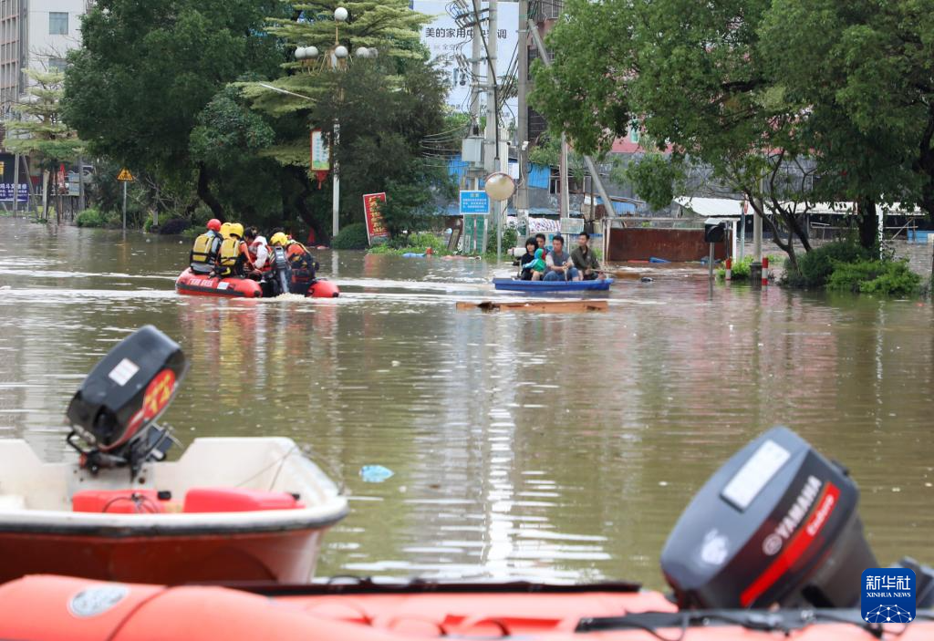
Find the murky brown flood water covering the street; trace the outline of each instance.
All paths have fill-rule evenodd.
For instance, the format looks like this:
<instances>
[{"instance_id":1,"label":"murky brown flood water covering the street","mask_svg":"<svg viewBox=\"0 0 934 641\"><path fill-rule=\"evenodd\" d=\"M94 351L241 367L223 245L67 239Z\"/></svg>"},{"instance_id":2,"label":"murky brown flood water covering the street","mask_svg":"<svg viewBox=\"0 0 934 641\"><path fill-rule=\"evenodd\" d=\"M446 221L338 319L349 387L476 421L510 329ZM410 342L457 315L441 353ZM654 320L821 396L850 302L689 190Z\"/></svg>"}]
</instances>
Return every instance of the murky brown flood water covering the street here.
<instances>
[{"instance_id":1,"label":"murky brown flood water covering the street","mask_svg":"<svg viewBox=\"0 0 934 641\"><path fill-rule=\"evenodd\" d=\"M934 562L927 301L711 294L669 269L617 282L607 314L458 312L498 296L487 265L327 251L340 299L214 300L174 291L188 250L0 218L0 438L66 455L76 386L152 323L191 358L179 439L289 436L347 483L319 575L661 587L691 495L778 424L850 468L880 562Z\"/></svg>"}]
</instances>

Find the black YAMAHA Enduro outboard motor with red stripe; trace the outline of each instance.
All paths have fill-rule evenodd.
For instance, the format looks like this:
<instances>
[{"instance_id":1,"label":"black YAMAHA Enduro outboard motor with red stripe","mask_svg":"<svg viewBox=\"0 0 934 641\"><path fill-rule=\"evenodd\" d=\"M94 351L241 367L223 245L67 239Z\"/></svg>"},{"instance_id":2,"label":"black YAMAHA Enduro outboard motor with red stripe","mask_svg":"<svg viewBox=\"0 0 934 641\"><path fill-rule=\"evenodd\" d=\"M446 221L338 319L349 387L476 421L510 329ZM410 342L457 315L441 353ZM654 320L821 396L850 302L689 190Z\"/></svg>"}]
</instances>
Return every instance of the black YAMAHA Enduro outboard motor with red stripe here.
<instances>
[{"instance_id":1,"label":"black YAMAHA Enduro outboard motor with red stripe","mask_svg":"<svg viewBox=\"0 0 934 641\"><path fill-rule=\"evenodd\" d=\"M776 427L735 454L681 515L661 553L678 605L852 607L878 567L842 467Z\"/></svg>"}]
</instances>

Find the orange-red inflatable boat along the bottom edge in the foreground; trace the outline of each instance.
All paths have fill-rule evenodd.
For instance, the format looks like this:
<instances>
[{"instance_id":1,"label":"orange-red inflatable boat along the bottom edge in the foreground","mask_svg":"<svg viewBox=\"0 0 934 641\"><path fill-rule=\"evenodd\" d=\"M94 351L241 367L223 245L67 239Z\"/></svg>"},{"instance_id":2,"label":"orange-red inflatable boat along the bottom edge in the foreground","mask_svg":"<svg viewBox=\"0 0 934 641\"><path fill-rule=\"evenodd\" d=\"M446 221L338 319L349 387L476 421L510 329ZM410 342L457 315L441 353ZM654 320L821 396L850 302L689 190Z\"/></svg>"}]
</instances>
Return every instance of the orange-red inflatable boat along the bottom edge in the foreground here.
<instances>
[{"instance_id":1,"label":"orange-red inflatable boat along the bottom edge in the foreground","mask_svg":"<svg viewBox=\"0 0 934 641\"><path fill-rule=\"evenodd\" d=\"M929 611L870 624L858 610L684 610L627 584L364 582L254 589L166 588L33 576L0 585L0 638L52 641L872 641L934 637ZM272 596L273 598L269 598Z\"/></svg>"}]
</instances>

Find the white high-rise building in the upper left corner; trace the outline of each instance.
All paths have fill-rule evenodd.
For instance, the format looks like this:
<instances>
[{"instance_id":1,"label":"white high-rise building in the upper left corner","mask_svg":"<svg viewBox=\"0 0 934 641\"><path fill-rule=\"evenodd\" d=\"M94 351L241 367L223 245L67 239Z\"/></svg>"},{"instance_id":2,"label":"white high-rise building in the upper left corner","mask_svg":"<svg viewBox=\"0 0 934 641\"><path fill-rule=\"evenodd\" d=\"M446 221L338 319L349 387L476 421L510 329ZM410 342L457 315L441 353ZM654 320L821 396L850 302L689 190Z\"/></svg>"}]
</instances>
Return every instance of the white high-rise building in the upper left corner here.
<instances>
[{"instance_id":1,"label":"white high-rise building in the upper left corner","mask_svg":"<svg viewBox=\"0 0 934 641\"><path fill-rule=\"evenodd\" d=\"M28 89L23 69L64 68L81 45L91 0L0 0L0 105L6 115Z\"/></svg>"}]
</instances>

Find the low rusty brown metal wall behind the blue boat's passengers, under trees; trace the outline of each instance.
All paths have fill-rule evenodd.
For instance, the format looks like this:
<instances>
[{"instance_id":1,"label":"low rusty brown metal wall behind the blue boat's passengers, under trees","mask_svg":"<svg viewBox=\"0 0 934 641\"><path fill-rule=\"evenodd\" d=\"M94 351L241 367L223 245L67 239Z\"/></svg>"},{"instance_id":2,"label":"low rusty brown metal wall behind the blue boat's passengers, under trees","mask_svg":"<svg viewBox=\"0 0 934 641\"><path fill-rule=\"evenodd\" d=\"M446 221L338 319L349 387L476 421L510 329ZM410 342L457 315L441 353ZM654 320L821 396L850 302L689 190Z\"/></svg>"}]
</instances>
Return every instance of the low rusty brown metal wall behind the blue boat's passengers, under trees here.
<instances>
[{"instance_id":1,"label":"low rusty brown metal wall behind the blue boat's passengers, under trees","mask_svg":"<svg viewBox=\"0 0 934 641\"><path fill-rule=\"evenodd\" d=\"M710 253L703 242L703 230L623 229L610 231L607 260L648 260L664 258L672 262L700 260ZM716 243L716 258L727 258L726 243Z\"/></svg>"}]
</instances>

